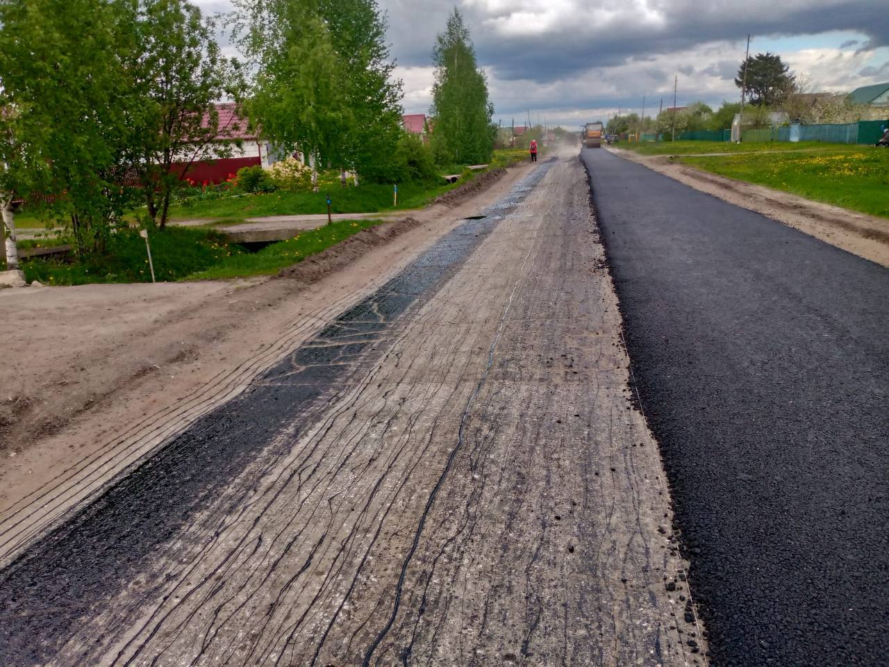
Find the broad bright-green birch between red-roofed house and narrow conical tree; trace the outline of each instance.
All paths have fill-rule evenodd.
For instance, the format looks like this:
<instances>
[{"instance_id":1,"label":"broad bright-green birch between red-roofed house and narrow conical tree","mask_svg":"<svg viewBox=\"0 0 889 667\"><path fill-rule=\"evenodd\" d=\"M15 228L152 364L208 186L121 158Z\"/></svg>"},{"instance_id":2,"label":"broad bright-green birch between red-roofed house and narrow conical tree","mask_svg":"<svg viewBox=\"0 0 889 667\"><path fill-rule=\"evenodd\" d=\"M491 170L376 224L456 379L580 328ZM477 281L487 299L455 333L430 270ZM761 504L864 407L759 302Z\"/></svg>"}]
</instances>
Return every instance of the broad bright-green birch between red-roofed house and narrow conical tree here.
<instances>
[{"instance_id":1,"label":"broad bright-green birch between red-roofed house and narrow conical tree","mask_svg":"<svg viewBox=\"0 0 889 667\"><path fill-rule=\"evenodd\" d=\"M236 40L257 71L247 108L264 136L313 167L372 171L398 140L401 83L390 81L374 0L237 0ZM313 169L316 182L316 169Z\"/></svg>"}]
</instances>

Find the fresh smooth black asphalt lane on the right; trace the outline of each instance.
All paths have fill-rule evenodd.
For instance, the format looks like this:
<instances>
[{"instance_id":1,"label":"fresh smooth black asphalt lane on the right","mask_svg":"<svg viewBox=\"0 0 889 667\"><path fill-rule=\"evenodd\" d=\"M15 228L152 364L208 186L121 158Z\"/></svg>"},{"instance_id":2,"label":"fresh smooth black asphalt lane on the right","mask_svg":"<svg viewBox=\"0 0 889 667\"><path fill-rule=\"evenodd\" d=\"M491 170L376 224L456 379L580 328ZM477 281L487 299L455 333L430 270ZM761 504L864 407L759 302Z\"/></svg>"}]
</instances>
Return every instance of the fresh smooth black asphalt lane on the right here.
<instances>
[{"instance_id":1,"label":"fresh smooth black asphalt lane on the right","mask_svg":"<svg viewBox=\"0 0 889 667\"><path fill-rule=\"evenodd\" d=\"M712 664L889 664L889 269L581 158Z\"/></svg>"}]
</instances>

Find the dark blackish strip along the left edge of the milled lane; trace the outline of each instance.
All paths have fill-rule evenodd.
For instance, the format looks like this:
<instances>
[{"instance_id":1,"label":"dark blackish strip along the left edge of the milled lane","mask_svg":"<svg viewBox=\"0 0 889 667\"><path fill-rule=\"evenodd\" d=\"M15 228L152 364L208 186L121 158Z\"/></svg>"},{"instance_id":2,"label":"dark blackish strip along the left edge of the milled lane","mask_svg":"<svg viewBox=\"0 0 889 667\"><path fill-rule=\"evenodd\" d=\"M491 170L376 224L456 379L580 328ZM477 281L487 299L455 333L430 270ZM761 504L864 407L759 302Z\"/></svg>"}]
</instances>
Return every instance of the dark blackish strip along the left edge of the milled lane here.
<instances>
[{"instance_id":1,"label":"dark blackish strip along the left edge of the milled lane","mask_svg":"<svg viewBox=\"0 0 889 667\"><path fill-rule=\"evenodd\" d=\"M143 576L152 553L226 489L228 512L242 508L258 477L232 487L235 478L260 454L276 461L269 450L286 447L279 438L283 430L300 433L315 423L319 411L348 388L349 374L379 356L380 335L431 298L552 164L541 164L479 219L445 234L243 394L170 438L0 570L0 667L50 663L82 619L99 615L108 600ZM151 580L145 598L159 595L163 577L145 578Z\"/></svg>"}]
</instances>

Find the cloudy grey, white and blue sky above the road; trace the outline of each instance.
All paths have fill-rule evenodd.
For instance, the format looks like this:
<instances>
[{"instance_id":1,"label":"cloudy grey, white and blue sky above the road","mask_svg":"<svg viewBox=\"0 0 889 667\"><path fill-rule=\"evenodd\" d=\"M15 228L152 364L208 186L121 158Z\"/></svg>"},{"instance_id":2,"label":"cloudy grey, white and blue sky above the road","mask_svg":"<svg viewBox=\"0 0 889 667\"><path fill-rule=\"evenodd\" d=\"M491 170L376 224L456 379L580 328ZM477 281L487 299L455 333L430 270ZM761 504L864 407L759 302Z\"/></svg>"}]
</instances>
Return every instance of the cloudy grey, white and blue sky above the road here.
<instances>
[{"instance_id":1,"label":"cloudy grey, white and blue sky above the road","mask_svg":"<svg viewBox=\"0 0 889 667\"><path fill-rule=\"evenodd\" d=\"M205 12L227 0L197 0ZM878 0L378 0L404 81L428 111L436 32L456 4L485 68L494 119L574 128L621 111L736 100L750 52L777 52L813 90L889 82L889 11Z\"/></svg>"}]
</instances>

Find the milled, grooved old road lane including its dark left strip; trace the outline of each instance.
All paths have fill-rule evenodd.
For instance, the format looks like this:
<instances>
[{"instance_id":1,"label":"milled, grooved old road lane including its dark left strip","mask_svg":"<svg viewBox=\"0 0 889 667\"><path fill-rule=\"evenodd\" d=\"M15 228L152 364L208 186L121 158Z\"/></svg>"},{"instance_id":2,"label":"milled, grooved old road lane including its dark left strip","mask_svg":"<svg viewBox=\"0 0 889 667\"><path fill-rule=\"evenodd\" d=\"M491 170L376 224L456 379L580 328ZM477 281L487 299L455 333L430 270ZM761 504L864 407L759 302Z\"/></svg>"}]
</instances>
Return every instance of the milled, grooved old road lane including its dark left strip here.
<instances>
[{"instance_id":1,"label":"milled, grooved old road lane including its dark left strip","mask_svg":"<svg viewBox=\"0 0 889 667\"><path fill-rule=\"evenodd\" d=\"M541 163L0 572L0 663L704 664L620 332Z\"/></svg>"}]
</instances>

